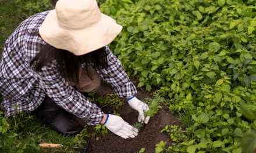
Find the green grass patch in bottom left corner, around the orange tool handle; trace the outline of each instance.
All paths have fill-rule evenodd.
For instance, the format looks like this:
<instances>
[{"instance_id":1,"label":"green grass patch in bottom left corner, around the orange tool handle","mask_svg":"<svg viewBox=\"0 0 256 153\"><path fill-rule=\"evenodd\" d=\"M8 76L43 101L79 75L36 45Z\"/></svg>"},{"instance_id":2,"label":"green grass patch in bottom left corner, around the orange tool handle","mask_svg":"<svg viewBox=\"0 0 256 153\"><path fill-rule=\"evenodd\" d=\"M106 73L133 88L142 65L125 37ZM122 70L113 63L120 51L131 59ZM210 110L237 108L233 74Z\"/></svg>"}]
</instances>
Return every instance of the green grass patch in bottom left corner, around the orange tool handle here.
<instances>
[{"instance_id":1,"label":"green grass patch in bottom left corner, around the orange tool handle","mask_svg":"<svg viewBox=\"0 0 256 153\"><path fill-rule=\"evenodd\" d=\"M77 152L68 147L84 147L87 129L76 136L60 134L40 122L36 116L22 112L6 118L0 112L0 152ZM89 136L88 136L89 137ZM40 143L57 143L65 147L42 149Z\"/></svg>"}]
</instances>

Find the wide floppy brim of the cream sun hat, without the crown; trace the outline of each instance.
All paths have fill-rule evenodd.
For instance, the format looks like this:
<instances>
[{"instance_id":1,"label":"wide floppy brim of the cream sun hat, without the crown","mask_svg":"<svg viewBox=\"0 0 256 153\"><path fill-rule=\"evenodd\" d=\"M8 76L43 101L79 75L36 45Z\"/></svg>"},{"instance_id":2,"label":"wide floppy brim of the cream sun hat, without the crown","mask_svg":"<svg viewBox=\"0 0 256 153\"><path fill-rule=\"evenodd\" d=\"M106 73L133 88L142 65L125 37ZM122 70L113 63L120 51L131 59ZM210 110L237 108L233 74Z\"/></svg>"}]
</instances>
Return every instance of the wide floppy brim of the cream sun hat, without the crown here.
<instances>
[{"instance_id":1,"label":"wide floppy brim of the cream sun hat, without the crown","mask_svg":"<svg viewBox=\"0 0 256 153\"><path fill-rule=\"evenodd\" d=\"M42 39L58 49L65 49L79 56L108 45L122 31L114 19L101 13L101 19L81 30L67 30L59 27L55 10L51 10L39 33Z\"/></svg>"}]
</instances>

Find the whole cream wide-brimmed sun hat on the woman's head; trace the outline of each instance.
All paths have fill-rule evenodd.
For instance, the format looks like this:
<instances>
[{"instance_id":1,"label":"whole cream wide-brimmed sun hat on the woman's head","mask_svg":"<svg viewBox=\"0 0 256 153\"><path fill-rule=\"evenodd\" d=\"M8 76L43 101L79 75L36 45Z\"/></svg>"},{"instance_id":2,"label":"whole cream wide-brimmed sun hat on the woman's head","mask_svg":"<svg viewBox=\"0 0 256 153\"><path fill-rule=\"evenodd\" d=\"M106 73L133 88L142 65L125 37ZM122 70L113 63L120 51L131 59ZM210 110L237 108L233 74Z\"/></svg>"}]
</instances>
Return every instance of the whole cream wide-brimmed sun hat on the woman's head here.
<instances>
[{"instance_id":1,"label":"whole cream wide-brimmed sun hat on the woman's head","mask_svg":"<svg viewBox=\"0 0 256 153\"><path fill-rule=\"evenodd\" d=\"M121 30L121 25L100 12L96 0L59 0L39 33L49 45L82 55L108 45Z\"/></svg>"}]
</instances>

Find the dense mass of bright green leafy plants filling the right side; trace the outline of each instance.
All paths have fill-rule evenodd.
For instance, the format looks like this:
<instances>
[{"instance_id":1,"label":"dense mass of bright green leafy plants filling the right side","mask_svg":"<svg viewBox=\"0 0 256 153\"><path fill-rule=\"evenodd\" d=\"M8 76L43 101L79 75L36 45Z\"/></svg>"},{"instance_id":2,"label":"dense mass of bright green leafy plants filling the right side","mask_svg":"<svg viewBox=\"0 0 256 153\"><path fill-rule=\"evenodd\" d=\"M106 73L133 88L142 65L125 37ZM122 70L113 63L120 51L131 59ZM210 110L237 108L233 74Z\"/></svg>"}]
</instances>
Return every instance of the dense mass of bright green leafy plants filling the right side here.
<instances>
[{"instance_id":1,"label":"dense mass of bright green leafy plants filling the right side","mask_svg":"<svg viewBox=\"0 0 256 153\"><path fill-rule=\"evenodd\" d=\"M256 110L255 0L106 0L101 9L123 25L111 48L138 87L158 86L170 111L193 112L194 141L168 151L241 152L256 128L240 108Z\"/></svg>"}]
</instances>

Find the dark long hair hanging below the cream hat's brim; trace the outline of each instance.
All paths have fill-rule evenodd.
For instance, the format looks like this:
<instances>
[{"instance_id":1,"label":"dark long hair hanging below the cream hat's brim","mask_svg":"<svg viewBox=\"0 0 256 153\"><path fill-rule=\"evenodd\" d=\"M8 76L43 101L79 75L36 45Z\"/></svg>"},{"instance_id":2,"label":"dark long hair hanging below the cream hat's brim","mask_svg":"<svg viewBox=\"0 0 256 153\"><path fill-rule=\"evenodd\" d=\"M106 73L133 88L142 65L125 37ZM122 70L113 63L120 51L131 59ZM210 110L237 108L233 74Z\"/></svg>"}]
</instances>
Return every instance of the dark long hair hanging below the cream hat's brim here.
<instances>
[{"instance_id":1,"label":"dark long hair hanging below the cream hat's brim","mask_svg":"<svg viewBox=\"0 0 256 153\"><path fill-rule=\"evenodd\" d=\"M108 67L105 46L93 52L76 56L67 50L57 49L49 44L42 46L40 52L31 60L30 65L35 64L33 65L34 70L41 71L41 68L50 64L52 60L56 60L58 63L61 75L72 82L79 82L79 68L83 63L94 65L99 71ZM90 77L90 74L88 75Z\"/></svg>"}]
</instances>

